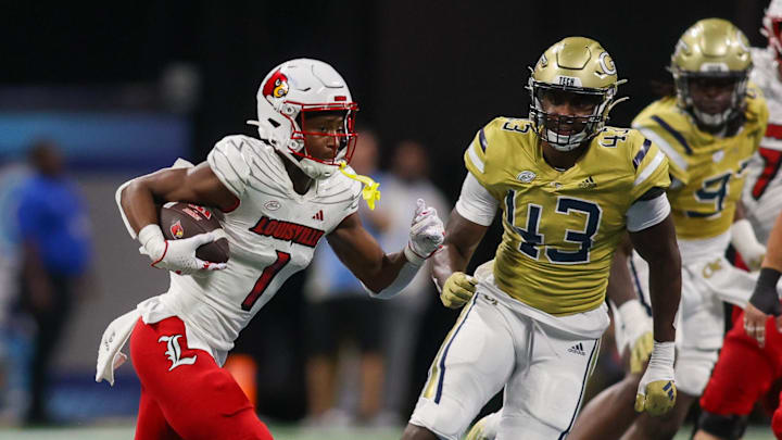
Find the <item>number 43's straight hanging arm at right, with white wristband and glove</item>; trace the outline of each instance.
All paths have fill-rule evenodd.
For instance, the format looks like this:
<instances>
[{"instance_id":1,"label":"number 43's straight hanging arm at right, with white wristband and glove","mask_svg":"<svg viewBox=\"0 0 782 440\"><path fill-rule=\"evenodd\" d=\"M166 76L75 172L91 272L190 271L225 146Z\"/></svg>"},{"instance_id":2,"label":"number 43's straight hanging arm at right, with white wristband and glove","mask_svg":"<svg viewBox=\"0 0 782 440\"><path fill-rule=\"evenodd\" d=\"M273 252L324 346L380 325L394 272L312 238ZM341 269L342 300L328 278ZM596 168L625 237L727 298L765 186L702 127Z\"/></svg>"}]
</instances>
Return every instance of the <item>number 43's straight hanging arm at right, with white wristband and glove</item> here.
<instances>
[{"instance_id":1,"label":"number 43's straight hanging arm at right, with white wristband and glove","mask_svg":"<svg viewBox=\"0 0 782 440\"><path fill-rule=\"evenodd\" d=\"M663 415L676 404L673 319L681 297L681 256L670 214L654 226L630 232L630 240L649 266L655 338L648 366L639 384L635 411Z\"/></svg>"}]
</instances>

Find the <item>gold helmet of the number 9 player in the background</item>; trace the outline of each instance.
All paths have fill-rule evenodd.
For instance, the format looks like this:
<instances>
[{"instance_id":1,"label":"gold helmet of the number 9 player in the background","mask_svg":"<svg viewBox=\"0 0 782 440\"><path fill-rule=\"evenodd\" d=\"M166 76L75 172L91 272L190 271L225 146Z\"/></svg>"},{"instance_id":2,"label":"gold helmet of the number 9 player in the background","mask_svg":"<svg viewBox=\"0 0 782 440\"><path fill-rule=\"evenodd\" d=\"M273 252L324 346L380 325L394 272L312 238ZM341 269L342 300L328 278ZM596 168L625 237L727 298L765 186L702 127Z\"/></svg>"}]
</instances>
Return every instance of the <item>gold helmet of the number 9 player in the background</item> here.
<instances>
[{"instance_id":1,"label":"gold helmet of the number 9 player in the background","mask_svg":"<svg viewBox=\"0 0 782 440\"><path fill-rule=\"evenodd\" d=\"M671 56L677 103L698 124L711 129L723 126L743 114L752 65L749 41L737 27L721 18L701 20L684 32ZM733 79L730 106L717 114L698 110L690 92L690 81L697 78Z\"/></svg>"}]
</instances>

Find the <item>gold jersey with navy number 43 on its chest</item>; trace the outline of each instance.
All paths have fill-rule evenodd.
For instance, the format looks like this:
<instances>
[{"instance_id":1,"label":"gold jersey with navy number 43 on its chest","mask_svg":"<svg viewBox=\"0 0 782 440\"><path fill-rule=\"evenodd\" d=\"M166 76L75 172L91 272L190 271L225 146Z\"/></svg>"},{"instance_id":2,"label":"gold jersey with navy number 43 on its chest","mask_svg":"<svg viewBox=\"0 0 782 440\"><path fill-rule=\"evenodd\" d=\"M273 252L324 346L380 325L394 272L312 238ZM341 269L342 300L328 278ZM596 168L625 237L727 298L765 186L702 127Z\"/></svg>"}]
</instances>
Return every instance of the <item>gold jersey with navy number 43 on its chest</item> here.
<instances>
[{"instance_id":1,"label":"gold jersey with navy number 43 on its chest","mask_svg":"<svg viewBox=\"0 0 782 440\"><path fill-rule=\"evenodd\" d=\"M478 131L465 163L502 205L496 286L552 315L603 303L627 210L670 185L665 154L633 129L604 128L576 165L557 171L529 121L497 117Z\"/></svg>"}]
</instances>

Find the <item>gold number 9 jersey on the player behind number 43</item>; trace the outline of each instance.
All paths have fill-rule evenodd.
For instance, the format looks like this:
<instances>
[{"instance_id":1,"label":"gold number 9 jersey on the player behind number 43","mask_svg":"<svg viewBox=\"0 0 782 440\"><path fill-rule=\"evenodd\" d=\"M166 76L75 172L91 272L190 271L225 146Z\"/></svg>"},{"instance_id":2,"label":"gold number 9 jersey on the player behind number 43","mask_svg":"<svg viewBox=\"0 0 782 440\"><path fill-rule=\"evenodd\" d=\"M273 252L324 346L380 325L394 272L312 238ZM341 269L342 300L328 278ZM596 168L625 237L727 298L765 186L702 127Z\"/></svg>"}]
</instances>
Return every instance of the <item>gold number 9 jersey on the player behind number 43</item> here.
<instances>
[{"instance_id":1,"label":"gold number 9 jersey on the player behind number 43","mask_svg":"<svg viewBox=\"0 0 782 440\"><path fill-rule=\"evenodd\" d=\"M766 101L752 84L745 115L744 126L728 138L698 129L692 116L677 106L676 98L653 102L633 121L633 128L669 159L674 184L668 199L678 237L707 239L730 229L746 166L768 124Z\"/></svg>"}]
</instances>

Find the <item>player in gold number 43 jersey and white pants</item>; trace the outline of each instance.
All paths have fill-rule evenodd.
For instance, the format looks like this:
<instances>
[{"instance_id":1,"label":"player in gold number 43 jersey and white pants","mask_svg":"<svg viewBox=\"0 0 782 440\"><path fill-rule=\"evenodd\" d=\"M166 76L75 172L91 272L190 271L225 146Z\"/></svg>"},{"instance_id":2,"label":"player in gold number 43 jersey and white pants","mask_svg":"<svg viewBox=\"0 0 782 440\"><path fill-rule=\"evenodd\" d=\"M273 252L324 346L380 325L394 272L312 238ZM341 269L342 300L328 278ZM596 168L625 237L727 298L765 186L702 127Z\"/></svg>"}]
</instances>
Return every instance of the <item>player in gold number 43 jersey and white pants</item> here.
<instances>
[{"instance_id":1,"label":"player in gold number 43 jersey and white pants","mask_svg":"<svg viewBox=\"0 0 782 440\"><path fill-rule=\"evenodd\" d=\"M673 317L681 265L665 198L665 154L639 131L606 127L617 71L597 41L570 37L539 59L529 120L497 117L465 153L468 169L432 276L464 310L429 372L404 440L457 440L505 388L500 439L557 439L572 428L608 326L617 243L630 231L649 262L654 351L638 407L676 401ZM493 271L464 274L497 209Z\"/></svg>"}]
</instances>

